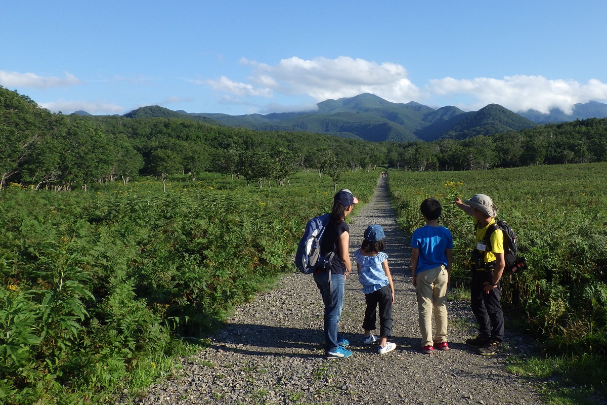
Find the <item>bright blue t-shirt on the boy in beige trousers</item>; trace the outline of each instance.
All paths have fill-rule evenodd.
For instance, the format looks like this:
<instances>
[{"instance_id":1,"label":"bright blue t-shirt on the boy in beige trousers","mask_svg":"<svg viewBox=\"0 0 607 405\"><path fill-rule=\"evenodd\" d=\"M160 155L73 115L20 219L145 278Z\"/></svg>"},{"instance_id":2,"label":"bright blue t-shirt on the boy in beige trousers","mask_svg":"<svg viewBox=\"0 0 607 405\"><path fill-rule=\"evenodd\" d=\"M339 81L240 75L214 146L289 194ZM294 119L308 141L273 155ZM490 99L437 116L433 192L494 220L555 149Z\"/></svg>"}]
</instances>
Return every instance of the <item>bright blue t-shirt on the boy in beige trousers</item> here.
<instances>
[{"instance_id":1,"label":"bright blue t-shirt on the boy in beige trousers","mask_svg":"<svg viewBox=\"0 0 607 405\"><path fill-rule=\"evenodd\" d=\"M453 249L451 231L444 226L424 225L413 231L411 247L419 249L418 267L415 274L424 270L447 266L446 249Z\"/></svg>"}]
</instances>

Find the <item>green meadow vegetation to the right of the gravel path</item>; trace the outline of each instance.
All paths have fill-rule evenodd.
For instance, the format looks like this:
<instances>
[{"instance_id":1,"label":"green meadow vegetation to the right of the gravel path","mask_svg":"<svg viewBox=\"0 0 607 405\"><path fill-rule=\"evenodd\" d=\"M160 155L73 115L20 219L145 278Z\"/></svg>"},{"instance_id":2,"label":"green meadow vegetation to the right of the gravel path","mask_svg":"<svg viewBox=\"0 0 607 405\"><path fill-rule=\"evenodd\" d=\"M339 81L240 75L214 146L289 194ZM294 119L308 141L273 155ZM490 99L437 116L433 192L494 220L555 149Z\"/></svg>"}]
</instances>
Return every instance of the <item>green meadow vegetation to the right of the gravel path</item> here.
<instances>
[{"instance_id":1,"label":"green meadow vegetation to the right of the gravel path","mask_svg":"<svg viewBox=\"0 0 607 405\"><path fill-rule=\"evenodd\" d=\"M532 166L466 172L390 171L388 186L407 231L422 225L419 204L443 202L442 222L453 234L453 287L466 286L473 224L453 205L487 194L498 218L518 235L529 268L503 277L502 302L510 326L540 342L550 372L582 389L607 381L607 165ZM539 362L540 359L534 361ZM526 364L526 366L525 366ZM554 364L554 366L552 366ZM592 373L587 367L592 365ZM538 370L532 362L527 370ZM586 371L584 371L586 370ZM582 374L583 372L583 374Z\"/></svg>"}]
</instances>

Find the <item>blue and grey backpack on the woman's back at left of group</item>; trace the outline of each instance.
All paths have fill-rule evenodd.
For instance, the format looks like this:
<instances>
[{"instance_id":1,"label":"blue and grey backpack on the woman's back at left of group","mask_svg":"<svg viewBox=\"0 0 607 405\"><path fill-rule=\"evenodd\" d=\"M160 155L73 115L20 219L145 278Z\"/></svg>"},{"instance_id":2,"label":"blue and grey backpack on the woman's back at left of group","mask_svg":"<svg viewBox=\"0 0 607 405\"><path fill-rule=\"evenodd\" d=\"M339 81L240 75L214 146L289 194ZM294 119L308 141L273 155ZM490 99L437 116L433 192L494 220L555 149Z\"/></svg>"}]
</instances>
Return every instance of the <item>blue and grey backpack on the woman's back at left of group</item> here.
<instances>
[{"instance_id":1,"label":"blue and grey backpack on the woman's back at left of group","mask_svg":"<svg viewBox=\"0 0 607 405\"><path fill-rule=\"evenodd\" d=\"M304 236L299 240L295 254L295 265L301 273L310 274L314 273L316 268L331 267L331 260L335 253L331 252L328 257L320 254L320 242L328 223L329 214L323 214L309 220L305 226Z\"/></svg>"}]
</instances>

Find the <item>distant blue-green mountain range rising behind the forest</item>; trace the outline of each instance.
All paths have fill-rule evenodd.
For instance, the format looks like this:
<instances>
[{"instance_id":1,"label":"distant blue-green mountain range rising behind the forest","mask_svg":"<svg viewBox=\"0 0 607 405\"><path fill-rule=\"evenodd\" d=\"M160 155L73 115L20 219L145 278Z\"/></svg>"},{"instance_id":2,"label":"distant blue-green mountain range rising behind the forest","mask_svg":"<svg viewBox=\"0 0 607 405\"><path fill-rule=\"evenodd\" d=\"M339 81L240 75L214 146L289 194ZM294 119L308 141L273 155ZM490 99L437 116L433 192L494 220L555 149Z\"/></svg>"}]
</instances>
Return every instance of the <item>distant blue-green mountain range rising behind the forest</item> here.
<instances>
[{"instance_id":1,"label":"distant blue-green mountain range rising behind the forest","mask_svg":"<svg viewBox=\"0 0 607 405\"><path fill-rule=\"evenodd\" d=\"M595 103L595 104L591 104ZM578 112L602 117L601 106L591 102L576 104ZM591 104L591 105L589 105ZM475 135L493 135L509 131L534 128L538 121L550 121L539 112L527 112L531 120L498 105L489 104L479 111L464 112L457 107L439 109L415 103L392 103L373 94L325 100L317 104L314 112L285 112L273 114L228 115L213 113L188 113L171 111L164 107L141 107L125 114L129 118L189 117L192 120L218 123L258 131L316 132L367 141L433 141L440 139L465 139ZM554 112L557 117L557 112ZM574 118L575 119L575 118ZM559 121L561 122L561 121Z\"/></svg>"}]
</instances>

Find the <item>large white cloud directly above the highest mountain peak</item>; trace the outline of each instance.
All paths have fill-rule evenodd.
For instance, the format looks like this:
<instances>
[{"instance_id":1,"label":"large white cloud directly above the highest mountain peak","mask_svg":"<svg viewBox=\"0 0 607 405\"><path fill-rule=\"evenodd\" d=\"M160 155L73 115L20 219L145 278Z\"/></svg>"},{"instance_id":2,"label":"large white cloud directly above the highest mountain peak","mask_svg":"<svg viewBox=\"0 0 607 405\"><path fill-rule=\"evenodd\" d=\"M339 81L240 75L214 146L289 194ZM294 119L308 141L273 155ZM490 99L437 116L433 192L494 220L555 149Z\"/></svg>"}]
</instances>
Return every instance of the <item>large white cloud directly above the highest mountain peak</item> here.
<instances>
[{"instance_id":1,"label":"large white cloud directly above the highest mountain peak","mask_svg":"<svg viewBox=\"0 0 607 405\"><path fill-rule=\"evenodd\" d=\"M399 64L349 56L304 60L293 56L274 66L242 59L253 67L249 80L283 94L306 94L316 101L373 93L388 101L407 102L421 97L418 87Z\"/></svg>"}]
</instances>

